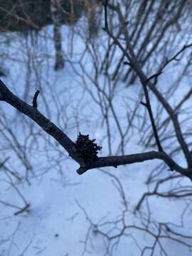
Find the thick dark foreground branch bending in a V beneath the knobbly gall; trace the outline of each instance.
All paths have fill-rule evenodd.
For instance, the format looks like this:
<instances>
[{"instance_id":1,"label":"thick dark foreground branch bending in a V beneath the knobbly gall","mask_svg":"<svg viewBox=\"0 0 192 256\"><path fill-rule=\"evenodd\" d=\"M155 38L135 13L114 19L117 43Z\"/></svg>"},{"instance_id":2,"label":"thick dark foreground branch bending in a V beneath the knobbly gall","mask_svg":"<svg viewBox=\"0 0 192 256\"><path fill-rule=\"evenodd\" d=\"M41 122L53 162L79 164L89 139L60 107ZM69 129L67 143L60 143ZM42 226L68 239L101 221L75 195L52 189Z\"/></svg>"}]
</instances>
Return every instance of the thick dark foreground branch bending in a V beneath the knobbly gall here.
<instances>
[{"instance_id":1,"label":"thick dark foreground branch bending in a V beneath the knobbly gall","mask_svg":"<svg viewBox=\"0 0 192 256\"><path fill-rule=\"evenodd\" d=\"M113 166L117 167L124 164L134 164L142 161L152 160L152 159L161 159L171 170L178 171L178 173L187 176L188 178L192 177L191 169L183 169L181 166L178 166L176 162L171 159L164 151L149 151L141 154L130 154L127 156L105 156L98 157L95 160L84 160L78 154L78 151L75 147L75 143L62 131L60 130L53 122L50 122L49 119L43 116L41 112L36 110L36 108L31 107L23 100L20 100L16 95L14 95L7 87L4 85L4 82L0 80L0 100L5 101L16 108L16 110L26 114L26 116L33 119L42 129L44 129L50 136L58 141L58 143L63 146L63 148L68 151L68 154L80 164L78 169L78 174L84 174L85 171L95 168Z\"/></svg>"}]
</instances>

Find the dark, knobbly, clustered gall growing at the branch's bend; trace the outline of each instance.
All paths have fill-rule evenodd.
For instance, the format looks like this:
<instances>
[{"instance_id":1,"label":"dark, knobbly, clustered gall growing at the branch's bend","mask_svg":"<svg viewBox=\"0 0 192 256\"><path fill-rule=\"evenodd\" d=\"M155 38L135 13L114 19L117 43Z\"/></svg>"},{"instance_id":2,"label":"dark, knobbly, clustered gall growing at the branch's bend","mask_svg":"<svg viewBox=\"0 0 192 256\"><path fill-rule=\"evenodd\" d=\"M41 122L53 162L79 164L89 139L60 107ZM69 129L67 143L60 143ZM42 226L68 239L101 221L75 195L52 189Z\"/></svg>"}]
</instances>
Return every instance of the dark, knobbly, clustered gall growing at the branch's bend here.
<instances>
[{"instance_id":1,"label":"dark, knobbly, clustered gall growing at the branch's bend","mask_svg":"<svg viewBox=\"0 0 192 256\"><path fill-rule=\"evenodd\" d=\"M89 139L89 134L83 135L80 133L78 135L78 139L75 142L75 146L78 151L78 154L80 154L84 161L97 159L97 154L102 149L102 147L98 146L94 142L95 139Z\"/></svg>"}]
</instances>

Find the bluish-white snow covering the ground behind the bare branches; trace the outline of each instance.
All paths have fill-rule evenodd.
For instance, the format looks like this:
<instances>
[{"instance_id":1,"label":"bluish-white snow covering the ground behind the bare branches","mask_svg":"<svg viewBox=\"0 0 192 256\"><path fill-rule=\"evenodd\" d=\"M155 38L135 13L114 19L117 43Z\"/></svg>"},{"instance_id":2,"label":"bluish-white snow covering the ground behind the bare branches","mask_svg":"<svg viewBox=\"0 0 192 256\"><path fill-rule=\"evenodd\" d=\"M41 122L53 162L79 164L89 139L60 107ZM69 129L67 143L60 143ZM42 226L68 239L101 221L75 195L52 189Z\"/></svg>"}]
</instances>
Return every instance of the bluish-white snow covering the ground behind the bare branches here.
<instances>
[{"instance_id":1,"label":"bluish-white snow covering the ground behind the bare branches","mask_svg":"<svg viewBox=\"0 0 192 256\"><path fill-rule=\"evenodd\" d=\"M54 48L52 41L53 27L45 28L38 36L38 42L31 43L29 37L18 37L11 34L9 48L4 48L4 54L10 56L4 65L9 69L9 75L4 78L6 85L13 90L16 95L25 98L26 102L31 102L33 94L37 89L41 90L38 97L38 109L49 117L55 124L65 131L68 136L75 141L78 132L90 134L91 138L96 138L97 142L102 144L103 156L109 154L107 148L106 129L102 122L100 107L92 100L90 93L82 85L80 76L75 70L78 70L78 63L72 67L71 63L65 62L65 69L55 73L53 71ZM63 26L63 35L69 34L69 28ZM42 36L42 38L41 38ZM68 50L68 40L63 40L65 52ZM80 53L85 48L80 38L75 39L75 50L73 53L73 63L79 60ZM45 58L46 56L46 58ZM26 69L26 65L33 67L31 73ZM90 63L85 67L89 70ZM79 68L79 72L82 71ZM91 69L90 69L91 72ZM170 75L163 75L159 84L168 82ZM92 75L92 74L90 74ZM174 77L174 75L172 75ZM101 76L101 80L104 80ZM172 79L172 77L171 77ZM188 83L178 90L170 102L174 104L183 92L188 90ZM31 87L28 87L31 85ZM92 85L91 85L92 86ZM164 88L162 88L164 90ZM93 94L97 94L95 87L91 87ZM131 86L128 89L119 84L114 97L114 106L119 122L123 122L126 116L124 101L131 95L137 97L138 87ZM177 96L176 96L177 95ZM132 105L132 102L129 103ZM155 102L153 102L155 106ZM78 176L76 171L78 165L72 161L63 149L48 138L45 132L41 131L36 124L29 121L22 114L17 114L15 110L6 103L1 102L1 108L6 113L6 121L14 131L16 139L23 145L20 149L28 151L28 159L33 166L33 172L29 171L28 182L16 181L11 186L10 177L4 174L1 169L0 198L1 201L23 207L23 201L18 193L21 192L26 202L30 204L28 213L14 215L16 209L5 206L0 203L0 255L42 255L42 256L76 256L76 255L105 255L106 240L102 235L94 232L94 227L105 223L103 229L110 230L114 222L121 218L125 210L122 201L122 189L126 196L127 209L124 216L126 225L135 225L144 228L144 217L139 218L139 213L134 213L139 199L143 193L148 191L146 180L160 161L148 161L142 164L132 164L130 166L121 166L117 169L106 168L103 170L93 169L87 171L82 176ZM5 118L1 116L2 122ZM21 122L22 120L22 122ZM25 124L25 122L27 122ZM29 131L29 128L33 132ZM119 135L115 122L111 117L112 129L112 150L115 152L119 143ZM126 123L124 124L126 127ZM3 127L1 126L1 129ZM6 127L4 127L6 129ZM1 130L2 131L2 130ZM129 139L129 143L124 147L126 154L138 153L144 151L142 145L139 145L139 135L135 133ZM36 135L35 135L36 134ZM14 137L7 134L10 139L2 137L1 160L10 157L6 165L14 169L18 174L26 174L25 166L13 147L16 145L11 142ZM26 142L26 137L28 140ZM10 147L10 149L9 149ZM18 152L19 153L19 152ZM176 156L178 161L183 161L181 156ZM108 172L109 174L107 174ZM169 176L171 173L165 169L164 174L160 176ZM118 178L118 180L115 178ZM9 183L7 182L9 181ZM118 182L122 183L122 187ZM182 184L190 186L187 179L181 181ZM166 186L171 186L169 185ZM166 186L161 190L166 191ZM16 189L17 188L17 189ZM19 191L19 192L18 192ZM190 208L184 213L183 223L181 214L185 207L182 200L174 201L169 198L149 199L152 204L151 222L154 228L158 230L155 223L175 223L183 225L183 228L176 228L191 235ZM146 210L146 207L144 207ZM144 216L146 213L144 213ZM107 223L109 222L109 223ZM112 222L112 223L110 223ZM90 225L92 229L89 230ZM95 226L97 225L97 226ZM110 235L115 235L121 230L121 223L117 223L116 230L112 228ZM102 227L101 227L102 228ZM90 233L89 233L90 231ZM88 232L88 233L87 233ZM140 255L144 246L151 246L154 240L149 233L142 230L127 229L126 236L119 240L117 247L114 247L112 255ZM173 240L164 240L164 246L168 255L191 255L191 252ZM112 248L110 247L110 250ZM110 252L108 252L110 253ZM147 252L146 254L147 255ZM157 248L156 254L159 255Z\"/></svg>"}]
</instances>

